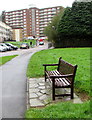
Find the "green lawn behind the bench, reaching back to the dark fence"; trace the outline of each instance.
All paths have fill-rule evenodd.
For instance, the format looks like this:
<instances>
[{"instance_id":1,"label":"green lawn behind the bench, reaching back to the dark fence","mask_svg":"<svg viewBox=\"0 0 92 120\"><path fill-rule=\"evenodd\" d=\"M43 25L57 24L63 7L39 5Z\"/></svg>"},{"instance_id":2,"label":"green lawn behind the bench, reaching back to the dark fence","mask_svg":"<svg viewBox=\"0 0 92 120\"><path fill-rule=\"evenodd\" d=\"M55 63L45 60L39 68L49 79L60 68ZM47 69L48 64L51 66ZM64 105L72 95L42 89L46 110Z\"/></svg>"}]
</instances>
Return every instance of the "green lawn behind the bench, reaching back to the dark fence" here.
<instances>
[{"instance_id":1,"label":"green lawn behind the bench, reaching back to the dark fence","mask_svg":"<svg viewBox=\"0 0 92 120\"><path fill-rule=\"evenodd\" d=\"M59 57L73 65L78 65L75 88L90 94L90 48L61 48L37 52L30 59L27 77L44 76L44 67L42 65L45 63L57 63ZM49 69L52 68L49 67Z\"/></svg>"}]
</instances>

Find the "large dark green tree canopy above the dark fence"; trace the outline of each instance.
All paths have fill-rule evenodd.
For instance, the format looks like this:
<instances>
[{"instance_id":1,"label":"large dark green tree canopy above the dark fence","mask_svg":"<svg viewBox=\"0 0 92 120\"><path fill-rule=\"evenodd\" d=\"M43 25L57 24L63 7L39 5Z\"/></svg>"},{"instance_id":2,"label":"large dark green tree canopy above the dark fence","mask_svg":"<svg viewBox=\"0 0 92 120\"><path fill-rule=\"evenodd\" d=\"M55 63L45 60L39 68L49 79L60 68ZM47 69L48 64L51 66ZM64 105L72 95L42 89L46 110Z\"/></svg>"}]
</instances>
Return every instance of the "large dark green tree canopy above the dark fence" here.
<instances>
[{"instance_id":1,"label":"large dark green tree canopy above the dark fence","mask_svg":"<svg viewBox=\"0 0 92 120\"><path fill-rule=\"evenodd\" d=\"M74 2L58 25L59 36L92 35L92 2Z\"/></svg>"}]
</instances>

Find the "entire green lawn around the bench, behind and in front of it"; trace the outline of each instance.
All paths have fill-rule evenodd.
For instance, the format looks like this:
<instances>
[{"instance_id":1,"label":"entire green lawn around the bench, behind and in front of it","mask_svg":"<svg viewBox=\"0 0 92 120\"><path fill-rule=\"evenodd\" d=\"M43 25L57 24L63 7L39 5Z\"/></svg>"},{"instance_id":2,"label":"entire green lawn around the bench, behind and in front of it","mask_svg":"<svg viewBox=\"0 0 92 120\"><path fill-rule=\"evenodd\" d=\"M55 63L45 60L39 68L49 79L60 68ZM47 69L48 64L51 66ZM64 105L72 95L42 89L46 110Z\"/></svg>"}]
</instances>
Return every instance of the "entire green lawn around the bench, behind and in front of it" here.
<instances>
[{"instance_id":1,"label":"entire green lawn around the bench, behind and in front of it","mask_svg":"<svg viewBox=\"0 0 92 120\"><path fill-rule=\"evenodd\" d=\"M45 63L57 63L59 57L69 63L78 65L75 77L76 91L90 94L90 48L60 48L48 49L35 53L28 64L27 77L44 76ZM48 69L52 70L51 67ZM56 69L56 67L54 68ZM61 102L44 108L30 108L26 111L26 118L91 118L90 101L82 104Z\"/></svg>"}]
</instances>

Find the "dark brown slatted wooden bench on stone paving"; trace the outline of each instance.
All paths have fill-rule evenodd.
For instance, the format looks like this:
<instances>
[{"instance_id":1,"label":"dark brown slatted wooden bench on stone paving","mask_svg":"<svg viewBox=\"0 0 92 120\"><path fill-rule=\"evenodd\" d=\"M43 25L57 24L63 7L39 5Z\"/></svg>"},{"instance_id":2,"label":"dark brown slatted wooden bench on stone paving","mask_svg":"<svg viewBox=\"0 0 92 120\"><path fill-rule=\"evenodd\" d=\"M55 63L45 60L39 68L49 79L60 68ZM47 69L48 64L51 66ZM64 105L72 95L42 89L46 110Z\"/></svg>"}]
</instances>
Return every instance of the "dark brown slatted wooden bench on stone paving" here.
<instances>
[{"instance_id":1,"label":"dark brown slatted wooden bench on stone paving","mask_svg":"<svg viewBox=\"0 0 92 120\"><path fill-rule=\"evenodd\" d=\"M45 81L48 79L52 83L52 99L58 96L71 96L74 98L74 78L77 70L77 65L72 64L59 58L58 64L43 64L45 72ZM57 70L48 71L47 66L57 66ZM55 94L56 88L70 88L70 93Z\"/></svg>"}]
</instances>

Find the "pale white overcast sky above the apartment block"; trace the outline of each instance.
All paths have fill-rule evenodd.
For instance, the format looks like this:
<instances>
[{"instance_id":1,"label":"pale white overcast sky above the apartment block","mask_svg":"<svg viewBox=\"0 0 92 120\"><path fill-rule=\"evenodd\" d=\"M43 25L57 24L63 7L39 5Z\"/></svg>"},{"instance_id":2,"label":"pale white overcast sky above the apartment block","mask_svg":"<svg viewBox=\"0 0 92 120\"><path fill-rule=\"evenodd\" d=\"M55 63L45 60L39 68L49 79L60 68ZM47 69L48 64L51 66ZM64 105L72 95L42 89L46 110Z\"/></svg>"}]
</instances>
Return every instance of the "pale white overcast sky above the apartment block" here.
<instances>
[{"instance_id":1,"label":"pale white overcast sky above the apartment block","mask_svg":"<svg viewBox=\"0 0 92 120\"><path fill-rule=\"evenodd\" d=\"M53 6L71 7L75 0L1 0L1 11L13 11L29 7L47 8Z\"/></svg>"}]
</instances>

